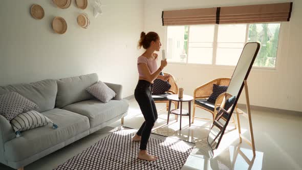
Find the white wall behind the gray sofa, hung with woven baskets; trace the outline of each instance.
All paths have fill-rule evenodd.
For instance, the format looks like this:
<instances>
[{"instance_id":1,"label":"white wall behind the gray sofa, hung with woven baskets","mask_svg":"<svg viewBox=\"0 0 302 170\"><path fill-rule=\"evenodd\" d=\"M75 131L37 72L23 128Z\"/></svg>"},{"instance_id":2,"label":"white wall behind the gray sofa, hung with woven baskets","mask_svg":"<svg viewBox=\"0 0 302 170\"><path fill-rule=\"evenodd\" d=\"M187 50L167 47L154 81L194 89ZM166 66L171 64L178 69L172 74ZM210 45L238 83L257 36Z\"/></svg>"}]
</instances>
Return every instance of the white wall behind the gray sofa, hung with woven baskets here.
<instances>
[{"instance_id":1,"label":"white wall behind the gray sofa, hung with woven baskets","mask_svg":"<svg viewBox=\"0 0 302 170\"><path fill-rule=\"evenodd\" d=\"M99 79L120 83L123 96L134 93L140 52L137 41L143 30L143 1L103 0L103 14L93 17L92 3L85 10L72 1L68 9L57 8L51 0L2 1L0 5L0 86L97 73ZM32 4L45 10L36 20L30 15ZM85 12L88 29L77 25ZM68 30L54 33L54 16L63 17Z\"/></svg>"}]
</instances>

